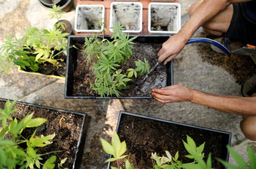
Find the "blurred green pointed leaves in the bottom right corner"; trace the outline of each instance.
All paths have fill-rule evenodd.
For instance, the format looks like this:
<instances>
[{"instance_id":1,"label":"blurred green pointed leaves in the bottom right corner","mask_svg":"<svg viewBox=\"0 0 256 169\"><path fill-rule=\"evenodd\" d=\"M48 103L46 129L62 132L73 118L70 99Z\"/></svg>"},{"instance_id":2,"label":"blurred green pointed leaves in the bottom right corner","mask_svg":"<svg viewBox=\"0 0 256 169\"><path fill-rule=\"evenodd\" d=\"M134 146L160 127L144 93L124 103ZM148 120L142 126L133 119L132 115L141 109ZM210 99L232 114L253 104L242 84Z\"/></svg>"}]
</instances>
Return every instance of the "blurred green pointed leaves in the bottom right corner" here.
<instances>
[{"instance_id":1,"label":"blurred green pointed leaves in the bottom right corner","mask_svg":"<svg viewBox=\"0 0 256 169\"><path fill-rule=\"evenodd\" d=\"M229 150L231 156L233 159L237 162L237 165L230 164L222 159L218 159L225 167L230 168L230 169L253 169L256 168L256 154L253 152L252 148L247 146L247 154L249 157L249 165L246 163L246 161L241 157L234 149L231 147L227 146L227 149Z\"/></svg>"}]
</instances>

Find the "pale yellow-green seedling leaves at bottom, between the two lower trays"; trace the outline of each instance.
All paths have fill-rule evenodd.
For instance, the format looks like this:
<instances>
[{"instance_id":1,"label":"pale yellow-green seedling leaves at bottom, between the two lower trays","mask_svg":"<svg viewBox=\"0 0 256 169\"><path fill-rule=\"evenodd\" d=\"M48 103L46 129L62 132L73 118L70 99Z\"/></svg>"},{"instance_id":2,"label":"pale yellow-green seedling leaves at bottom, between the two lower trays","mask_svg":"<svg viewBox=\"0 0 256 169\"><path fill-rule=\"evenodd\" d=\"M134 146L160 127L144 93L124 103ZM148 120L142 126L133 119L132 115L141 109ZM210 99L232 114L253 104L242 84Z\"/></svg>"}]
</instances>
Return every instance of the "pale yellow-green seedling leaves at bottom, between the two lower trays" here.
<instances>
[{"instance_id":1,"label":"pale yellow-green seedling leaves at bottom, between the two lower trays","mask_svg":"<svg viewBox=\"0 0 256 169\"><path fill-rule=\"evenodd\" d=\"M111 167L111 169L121 169L119 160L127 157L127 155L123 155L126 152L126 143L120 142L119 136L117 135L116 131L112 135L111 144L108 143L103 138L100 138L101 145L103 150L112 155L113 157L106 160L105 162L113 162L116 161L117 167ZM129 160L125 160L125 168L126 169L133 169L134 167L130 164Z\"/></svg>"}]
</instances>

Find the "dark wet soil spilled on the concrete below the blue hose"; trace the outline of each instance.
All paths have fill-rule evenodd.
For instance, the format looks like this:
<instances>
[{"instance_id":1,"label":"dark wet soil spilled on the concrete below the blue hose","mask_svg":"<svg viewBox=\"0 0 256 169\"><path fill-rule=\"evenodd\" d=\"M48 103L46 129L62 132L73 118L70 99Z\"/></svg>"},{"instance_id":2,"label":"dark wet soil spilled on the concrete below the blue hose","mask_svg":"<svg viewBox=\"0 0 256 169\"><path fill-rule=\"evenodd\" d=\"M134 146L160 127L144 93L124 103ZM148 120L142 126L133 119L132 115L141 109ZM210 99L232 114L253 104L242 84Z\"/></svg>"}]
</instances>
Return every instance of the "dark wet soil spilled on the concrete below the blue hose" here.
<instances>
[{"instance_id":1,"label":"dark wet soil spilled on the concrete below the blue hose","mask_svg":"<svg viewBox=\"0 0 256 169\"><path fill-rule=\"evenodd\" d=\"M199 37L205 37L215 39L216 37L202 32ZM227 56L225 54L217 53L213 51L209 44L197 43L198 53L200 54L203 62L208 62L211 65L219 66L230 73L236 82L241 85L244 80L255 73L256 65L253 60L246 55L231 54Z\"/></svg>"}]
</instances>

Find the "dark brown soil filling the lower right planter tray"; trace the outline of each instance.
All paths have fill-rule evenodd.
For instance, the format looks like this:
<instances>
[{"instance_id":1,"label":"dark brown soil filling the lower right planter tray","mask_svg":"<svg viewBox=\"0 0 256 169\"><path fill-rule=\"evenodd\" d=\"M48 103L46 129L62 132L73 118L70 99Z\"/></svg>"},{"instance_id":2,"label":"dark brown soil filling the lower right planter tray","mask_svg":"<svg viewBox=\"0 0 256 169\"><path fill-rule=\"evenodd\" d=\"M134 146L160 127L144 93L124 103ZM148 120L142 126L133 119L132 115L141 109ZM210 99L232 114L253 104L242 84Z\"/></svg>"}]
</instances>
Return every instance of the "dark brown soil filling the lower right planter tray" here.
<instances>
[{"instance_id":1,"label":"dark brown soil filling the lower right planter tray","mask_svg":"<svg viewBox=\"0 0 256 169\"><path fill-rule=\"evenodd\" d=\"M186 152L182 140L186 140L186 135L192 137L196 145L199 146L205 142L204 154L205 160L211 153L212 167L224 168L217 162L216 158L224 158L226 152L225 136L211 131L178 126L153 120L146 120L129 115L122 115L118 130L121 142L125 140L127 144L126 155L130 154L129 160L135 168L152 168L151 153L166 156L165 150L172 156L179 151L179 160L183 163L193 162L184 157ZM121 161L122 167L125 161ZM116 166L112 163L111 166Z\"/></svg>"}]
</instances>

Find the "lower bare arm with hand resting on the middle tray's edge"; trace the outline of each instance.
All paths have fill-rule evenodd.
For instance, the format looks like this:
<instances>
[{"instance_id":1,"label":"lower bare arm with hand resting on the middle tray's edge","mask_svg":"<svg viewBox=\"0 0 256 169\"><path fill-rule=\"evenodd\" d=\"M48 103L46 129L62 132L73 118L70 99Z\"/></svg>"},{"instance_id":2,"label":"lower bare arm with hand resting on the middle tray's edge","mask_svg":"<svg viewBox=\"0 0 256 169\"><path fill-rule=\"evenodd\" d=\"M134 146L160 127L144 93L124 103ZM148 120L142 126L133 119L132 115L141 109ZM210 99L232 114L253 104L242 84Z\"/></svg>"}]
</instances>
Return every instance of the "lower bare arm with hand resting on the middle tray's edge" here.
<instances>
[{"instance_id":1,"label":"lower bare arm with hand resting on the middle tray's edge","mask_svg":"<svg viewBox=\"0 0 256 169\"><path fill-rule=\"evenodd\" d=\"M190 101L229 114L256 115L256 97L217 96L178 85L152 89L152 96L162 103Z\"/></svg>"}]
</instances>

